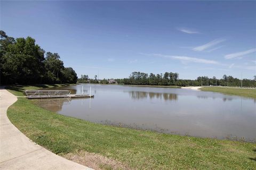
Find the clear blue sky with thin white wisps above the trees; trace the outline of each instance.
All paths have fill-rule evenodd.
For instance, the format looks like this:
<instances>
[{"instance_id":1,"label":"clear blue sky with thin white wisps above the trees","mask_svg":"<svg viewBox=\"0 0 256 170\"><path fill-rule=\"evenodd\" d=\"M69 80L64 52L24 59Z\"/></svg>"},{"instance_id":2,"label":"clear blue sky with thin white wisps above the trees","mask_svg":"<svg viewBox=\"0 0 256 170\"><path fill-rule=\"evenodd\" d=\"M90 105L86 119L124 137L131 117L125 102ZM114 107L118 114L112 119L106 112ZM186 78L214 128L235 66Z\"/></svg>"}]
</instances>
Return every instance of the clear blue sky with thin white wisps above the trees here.
<instances>
[{"instance_id":1,"label":"clear blue sky with thin white wisps above the trees","mask_svg":"<svg viewBox=\"0 0 256 170\"><path fill-rule=\"evenodd\" d=\"M1 30L35 38L78 77L256 75L255 1L1 1Z\"/></svg>"}]
</instances>

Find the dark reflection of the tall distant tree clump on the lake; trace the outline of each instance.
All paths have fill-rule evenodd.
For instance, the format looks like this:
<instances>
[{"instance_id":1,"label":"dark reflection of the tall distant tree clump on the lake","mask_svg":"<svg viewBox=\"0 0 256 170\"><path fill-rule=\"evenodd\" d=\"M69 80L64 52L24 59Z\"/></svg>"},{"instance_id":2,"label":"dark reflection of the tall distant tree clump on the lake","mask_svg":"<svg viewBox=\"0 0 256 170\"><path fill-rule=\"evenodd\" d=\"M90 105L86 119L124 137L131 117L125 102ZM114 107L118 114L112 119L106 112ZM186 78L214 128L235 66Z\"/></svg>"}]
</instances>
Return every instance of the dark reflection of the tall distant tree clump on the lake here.
<instances>
[{"instance_id":1,"label":"dark reflection of the tall distant tree clump on the lake","mask_svg":"<svg viewBox=\"0 0 256 170\"><path fill-rule=\"evenodd\" d=\"M146 91L124 91L128 92L129 96L132 99L145 99L145 98L150 98L150 99L164 99L166 100L177 100L178 96L177 94L168 94L168 93L159 93L159 92L146 92Z\"/></svg>"}]
</instances>

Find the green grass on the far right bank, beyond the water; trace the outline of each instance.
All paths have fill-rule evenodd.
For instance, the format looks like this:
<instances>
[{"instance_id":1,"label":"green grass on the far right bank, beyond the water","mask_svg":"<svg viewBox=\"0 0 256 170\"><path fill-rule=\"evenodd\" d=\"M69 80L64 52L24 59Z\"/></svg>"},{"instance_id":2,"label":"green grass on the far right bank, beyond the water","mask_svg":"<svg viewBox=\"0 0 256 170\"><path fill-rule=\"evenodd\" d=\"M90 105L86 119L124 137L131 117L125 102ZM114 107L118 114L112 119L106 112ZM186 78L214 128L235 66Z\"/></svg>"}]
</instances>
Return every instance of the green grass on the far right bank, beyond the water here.
<instances>
[{"instance_id":1,"label":"green grass on the far right bank, beyond the water","mask_svg":"<svg viewBox=\"0 0 256 170\"><path fill-rule=\"evenodd\" d=\"M203 88L200 88L200 90L202 90L202 91L222 92L223 94L238 95L238 96L256 98L256 89L235 89L235 88L224 88L224 87L203 87Z\"/></svg>"}]
</instances>

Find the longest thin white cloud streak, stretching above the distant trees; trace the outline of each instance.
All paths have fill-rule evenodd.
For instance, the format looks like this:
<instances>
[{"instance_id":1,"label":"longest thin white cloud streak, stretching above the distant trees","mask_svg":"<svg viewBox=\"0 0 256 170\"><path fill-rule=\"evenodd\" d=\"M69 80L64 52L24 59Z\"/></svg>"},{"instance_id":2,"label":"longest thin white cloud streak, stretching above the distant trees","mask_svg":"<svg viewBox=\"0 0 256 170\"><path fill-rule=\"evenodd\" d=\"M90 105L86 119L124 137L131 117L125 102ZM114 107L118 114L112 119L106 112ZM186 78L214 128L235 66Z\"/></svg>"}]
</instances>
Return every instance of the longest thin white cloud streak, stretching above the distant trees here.
<instances>
[{"instance_id":1,"label":"longest thin white cloud streak, stretching above the distant trees","mask_svg":"<svg viewBox=\"0 0 256 170\"><path fill-rule=\"evenodd\" d=\"M214 61L214 60L205 60L203 58L196 58L196 57L162 55L162 54L146 54L146 53L140 53L140 54L151 55L151 56L158 56L158 57L164 57L164 58L171 58L173 60L179 60L181 62L193 62L193 63L204 63L204 64L219 64L217 61Z\"/></svg>"}]
</instances>

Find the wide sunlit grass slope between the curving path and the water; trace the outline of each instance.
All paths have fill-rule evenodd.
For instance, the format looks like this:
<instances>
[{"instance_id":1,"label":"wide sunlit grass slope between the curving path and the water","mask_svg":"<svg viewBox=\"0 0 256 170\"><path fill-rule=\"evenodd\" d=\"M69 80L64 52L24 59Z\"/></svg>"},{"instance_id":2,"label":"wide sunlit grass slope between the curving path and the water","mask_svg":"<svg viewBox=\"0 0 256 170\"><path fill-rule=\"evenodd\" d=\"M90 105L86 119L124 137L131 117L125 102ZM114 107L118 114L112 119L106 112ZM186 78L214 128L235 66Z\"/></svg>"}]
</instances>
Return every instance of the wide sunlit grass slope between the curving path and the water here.
<instances>
[{"instance_id":1,"label":"wide sunlit grass slope between the curving path and the water","mask_svg":"<svg viewBox=\"0 0 256 170\"><path fill-rule=\"evenodd\" d=\"M183 137L95 124L46 111L26 98L19 98L8 109L7 116L31 140L55 154L68 158L71 155L75 161L83 153L95 153L132 169L256 167L255 143ZM111 169L111 165L99 167Z\"/></svg>"}]
</instances>

